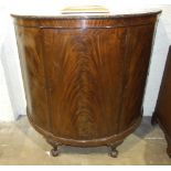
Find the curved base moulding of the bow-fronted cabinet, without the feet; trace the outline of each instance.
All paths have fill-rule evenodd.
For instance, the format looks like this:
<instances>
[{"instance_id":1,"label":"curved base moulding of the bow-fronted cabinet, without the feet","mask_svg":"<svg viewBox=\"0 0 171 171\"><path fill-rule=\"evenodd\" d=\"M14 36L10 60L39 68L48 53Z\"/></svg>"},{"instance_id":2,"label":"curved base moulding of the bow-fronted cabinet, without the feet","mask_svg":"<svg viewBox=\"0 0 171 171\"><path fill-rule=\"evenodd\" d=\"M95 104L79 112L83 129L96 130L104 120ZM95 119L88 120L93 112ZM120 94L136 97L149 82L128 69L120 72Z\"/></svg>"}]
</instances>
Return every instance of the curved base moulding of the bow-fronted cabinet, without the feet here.
<instances>
[{"instance_id":1,"label":"curved base moulding of the bow-fronted cabinet, without the feet","mask_svg":"<svg viewBox=\"0 0 171 171\"><path fill-rule=\"evenodd\" d=\"M77 146L77 147L98 147L98 146L110 146L110 145L121 143L124 139L128 135L133 132L136 128L140 125L142 116L140 115L140 117L137 118L137 120L135 120L135 122L129 128L127 128L125 131L118 135L114 135L110 137L104 137L99 139L92 139L92 140L76 140L76 139L66 139L62 137L56 137L52 135L51 132L42 129L38 125L35 125L35 122L33 121L30 115L28 115L28 118L29 118L30 124L34 127L34 129L39 131L41 135L43 135L47 141L50 140L50 141L58 142L62 145Z\"/></svg>"}]
</instances>

